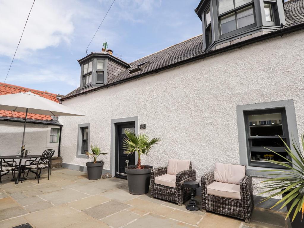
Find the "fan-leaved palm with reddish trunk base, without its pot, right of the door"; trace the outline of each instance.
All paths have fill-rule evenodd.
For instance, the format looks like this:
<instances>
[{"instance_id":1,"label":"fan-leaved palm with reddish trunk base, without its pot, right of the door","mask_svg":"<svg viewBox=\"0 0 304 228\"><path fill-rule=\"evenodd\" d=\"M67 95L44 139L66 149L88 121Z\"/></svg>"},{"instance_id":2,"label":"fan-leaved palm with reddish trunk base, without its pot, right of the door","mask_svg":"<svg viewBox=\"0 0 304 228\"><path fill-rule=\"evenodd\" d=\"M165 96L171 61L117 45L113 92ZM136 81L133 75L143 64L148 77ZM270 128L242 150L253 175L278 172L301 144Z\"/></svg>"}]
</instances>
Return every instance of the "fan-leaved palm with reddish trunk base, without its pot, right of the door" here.
<instances>
[{"instance_id":1,"label":"fan-leaved palm with reddish trunk base, without its pot, right of the door","mask_svg":"<svg viewBox=\"0 0 304 228\"><path fill-rule=\"evenodd\" d=\"M134 132L128 129L126 129L124 133L128 137L123 140L124 154L132 155L136 152L138 154L136 169L142 169L143 166L141 165L140 161L141 155L148 155L153 145L159 142L161 139L155 137L150 140L146 133L136 135Z\"/></svg>"}]
</instances>

